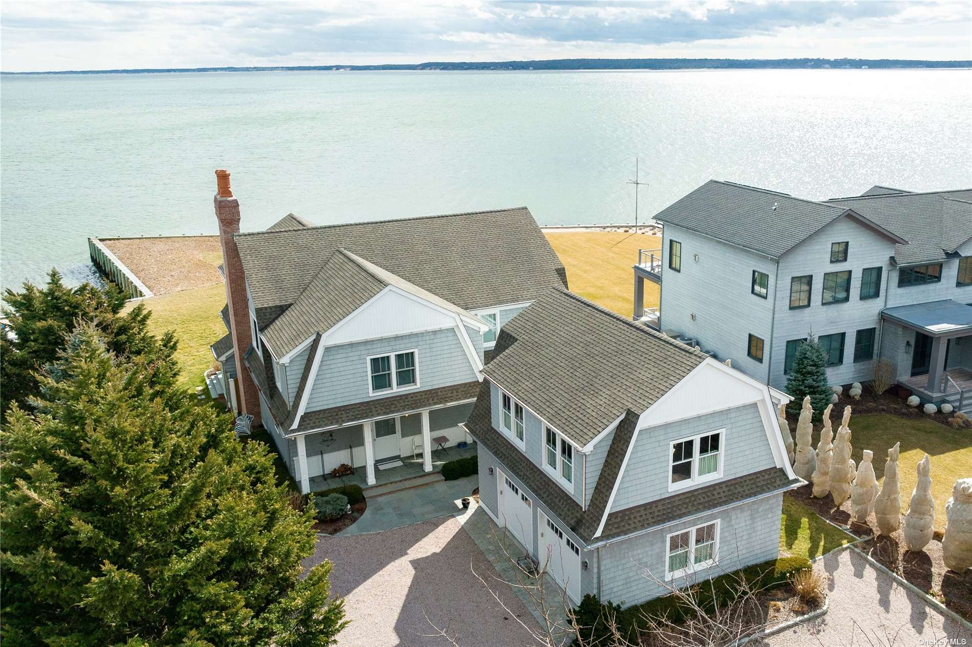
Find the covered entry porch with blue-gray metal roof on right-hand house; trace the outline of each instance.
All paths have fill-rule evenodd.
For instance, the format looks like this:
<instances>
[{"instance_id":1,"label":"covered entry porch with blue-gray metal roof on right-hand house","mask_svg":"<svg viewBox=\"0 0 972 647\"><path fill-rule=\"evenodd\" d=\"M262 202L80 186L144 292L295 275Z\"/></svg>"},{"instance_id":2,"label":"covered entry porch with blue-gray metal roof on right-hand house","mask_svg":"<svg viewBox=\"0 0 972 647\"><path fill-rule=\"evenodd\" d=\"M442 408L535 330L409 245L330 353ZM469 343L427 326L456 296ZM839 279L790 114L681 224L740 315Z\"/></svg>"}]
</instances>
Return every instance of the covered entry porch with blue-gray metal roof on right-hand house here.
<instances>
[{"instance_id":1,"label":"covered entry porch with blue-gray metal roof on right-hand house","mask_svg":"<svg viewBox=\"0 0 972 647\"><path fill-rule=\"evenodd\" d=\"M972 306L952 299L886 308L882 358L922 402L972 409Z\"/></svg>"}]
</instances>

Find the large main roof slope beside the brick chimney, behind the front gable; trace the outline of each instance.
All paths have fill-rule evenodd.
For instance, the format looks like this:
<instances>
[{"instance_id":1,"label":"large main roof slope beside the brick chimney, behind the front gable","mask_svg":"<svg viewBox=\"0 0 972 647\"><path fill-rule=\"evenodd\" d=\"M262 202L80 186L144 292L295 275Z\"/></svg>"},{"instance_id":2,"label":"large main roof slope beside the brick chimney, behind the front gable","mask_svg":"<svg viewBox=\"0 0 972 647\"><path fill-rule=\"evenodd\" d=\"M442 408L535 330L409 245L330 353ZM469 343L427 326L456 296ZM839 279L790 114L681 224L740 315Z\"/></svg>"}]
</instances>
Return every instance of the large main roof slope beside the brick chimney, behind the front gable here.
<instances>
[{"instance_id":1,"label":"large main roof slope beside the brick chimney, behind the front gable","mask_svg":"<svg viewBox=\"0 0 972 647\"><path fill-rule=\"evenodd\" d=\"M294 303L338 249L467 310L564 286L564 265L525 207L235 236L258 309Z\"/></svg>"}]
</instances>

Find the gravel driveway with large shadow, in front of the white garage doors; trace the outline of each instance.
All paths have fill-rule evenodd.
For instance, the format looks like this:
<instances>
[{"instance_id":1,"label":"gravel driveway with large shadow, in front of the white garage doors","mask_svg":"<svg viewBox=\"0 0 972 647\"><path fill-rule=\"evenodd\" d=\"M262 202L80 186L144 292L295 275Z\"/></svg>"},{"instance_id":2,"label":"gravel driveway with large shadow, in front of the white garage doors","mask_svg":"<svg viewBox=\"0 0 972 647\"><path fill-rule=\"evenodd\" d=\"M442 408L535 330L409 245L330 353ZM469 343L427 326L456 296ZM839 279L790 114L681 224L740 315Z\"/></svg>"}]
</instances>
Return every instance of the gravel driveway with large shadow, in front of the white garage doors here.
<instances>
[{"instance_id":1,"label":"gravel driveway with large shadow, in front of the white garage doors","mask_svg":"<svg viewBox=\"0 0 972 647\"><path fill-rule=\"evenodd\" d=\"M449 645L443 637L430 635L434 629L429 620L447 628L450 636L458 634L462 647L535 642L472 574L470 562L487 582L497 576L455 517L383 532L322 536L304 563L325 559L334 563L331 590L345 597L352 619L338 636L339 645ZM506 605L537 628L523 602L503 583L497 585L493 588Z\"/></svg>"}]
</instances>

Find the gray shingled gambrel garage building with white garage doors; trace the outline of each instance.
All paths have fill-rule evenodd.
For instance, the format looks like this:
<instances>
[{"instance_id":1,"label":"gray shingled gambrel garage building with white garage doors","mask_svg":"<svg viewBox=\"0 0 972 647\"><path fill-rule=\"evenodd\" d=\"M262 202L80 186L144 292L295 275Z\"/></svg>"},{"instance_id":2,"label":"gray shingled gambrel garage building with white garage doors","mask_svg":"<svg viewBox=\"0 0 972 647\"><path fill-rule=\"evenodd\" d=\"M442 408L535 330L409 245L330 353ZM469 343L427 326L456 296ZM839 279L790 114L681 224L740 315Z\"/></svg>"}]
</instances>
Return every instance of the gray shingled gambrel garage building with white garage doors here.
<instances>
[{"instance_id":1,"label":"gray shingled gambrel garage building with white garage doors","mask_svg":"<svg viewBox=\"0 0 972 647\"><path fill-rule=\"evenodd\" d=\"M784 393L566 289L503 326L483 374L465 425L481 506L574 602L777 557L782 493L803 483Z\"/></svg>"}]
</instances>

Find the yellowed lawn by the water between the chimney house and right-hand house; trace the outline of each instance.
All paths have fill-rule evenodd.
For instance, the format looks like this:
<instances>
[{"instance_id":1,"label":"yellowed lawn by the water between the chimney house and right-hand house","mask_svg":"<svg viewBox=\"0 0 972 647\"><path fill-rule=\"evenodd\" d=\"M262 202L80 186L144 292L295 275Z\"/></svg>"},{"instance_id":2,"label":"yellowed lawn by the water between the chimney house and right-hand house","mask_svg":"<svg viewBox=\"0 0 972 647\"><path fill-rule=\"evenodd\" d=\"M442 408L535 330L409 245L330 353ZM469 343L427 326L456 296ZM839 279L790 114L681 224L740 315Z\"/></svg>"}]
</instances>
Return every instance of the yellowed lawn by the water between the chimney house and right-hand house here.
<instances>
[{"instance_id":1,"label":"yellowed lawn by the water between the chimney house and right-hand house","mask_svg":"<svg viewBox=\"0 0 972 647\"><path fill-rule=\"evenodd\" d=\"M619 231L554 231L546 233L553 251L567 268L571 290L619 315L634 314L638 250L662 246L662 239ZM644 306L658 305L658 286L644 282Z\"/></svg>"}]
</instances>

